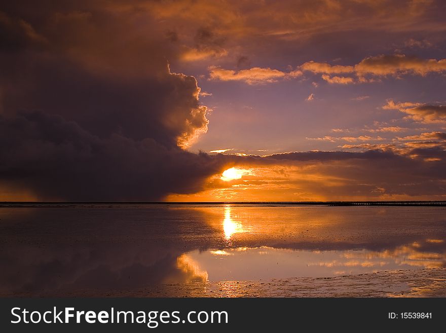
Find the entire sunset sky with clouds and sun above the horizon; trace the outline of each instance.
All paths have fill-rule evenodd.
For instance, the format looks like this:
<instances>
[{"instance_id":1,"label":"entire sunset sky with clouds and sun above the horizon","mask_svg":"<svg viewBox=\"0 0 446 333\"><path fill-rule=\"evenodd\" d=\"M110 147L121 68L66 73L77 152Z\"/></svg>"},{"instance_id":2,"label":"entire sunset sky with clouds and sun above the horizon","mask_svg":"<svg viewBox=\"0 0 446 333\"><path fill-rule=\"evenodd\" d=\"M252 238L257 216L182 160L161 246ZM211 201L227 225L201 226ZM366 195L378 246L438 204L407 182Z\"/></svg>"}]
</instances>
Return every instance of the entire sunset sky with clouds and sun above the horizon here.
<instances>
[{"instance_id":1,"label":"entire sunset sky with clouds and sun above the horizon","mask_svg":"<svg viewBox=\"0 0 446 333\"><path fill-rule=\"evenodd\" d=\"M0 200L444 200L445 14L4 2Z\"/></svg>"}]
</instances>

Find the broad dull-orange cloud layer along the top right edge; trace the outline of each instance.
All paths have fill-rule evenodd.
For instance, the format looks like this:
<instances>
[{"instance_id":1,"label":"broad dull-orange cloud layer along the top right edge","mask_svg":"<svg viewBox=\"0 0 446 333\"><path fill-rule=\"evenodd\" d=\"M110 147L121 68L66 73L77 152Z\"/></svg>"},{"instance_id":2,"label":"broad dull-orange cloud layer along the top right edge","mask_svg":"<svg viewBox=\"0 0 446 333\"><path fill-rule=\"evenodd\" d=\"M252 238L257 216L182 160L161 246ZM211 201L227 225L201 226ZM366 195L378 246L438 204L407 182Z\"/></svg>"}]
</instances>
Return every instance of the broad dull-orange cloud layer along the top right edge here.
<instances>
[{"instance_id":1,"label":"broad dull-orange cloud layer along the top right edge","mask_svg":"<svg viewBox=\"0 0 446 333\"><path fill-rule=\"evenodd\" d=\"M134 10L132 3L113 6L119 7L121 12ZM438 18L441 9L441 4L430 1L395 3L390 0L353 3L332 0L316 3L305 0L138 3L138 14L146 10L166 25L178 25L182 29L196 25L213 26L233 39L250 35L282 40L305 39L320 32L326 33L328 29L340 32L360 28L385 33L444 31L444 24ZM413 45L416 42L407 43Z\"/></svg>"}]
</instances>

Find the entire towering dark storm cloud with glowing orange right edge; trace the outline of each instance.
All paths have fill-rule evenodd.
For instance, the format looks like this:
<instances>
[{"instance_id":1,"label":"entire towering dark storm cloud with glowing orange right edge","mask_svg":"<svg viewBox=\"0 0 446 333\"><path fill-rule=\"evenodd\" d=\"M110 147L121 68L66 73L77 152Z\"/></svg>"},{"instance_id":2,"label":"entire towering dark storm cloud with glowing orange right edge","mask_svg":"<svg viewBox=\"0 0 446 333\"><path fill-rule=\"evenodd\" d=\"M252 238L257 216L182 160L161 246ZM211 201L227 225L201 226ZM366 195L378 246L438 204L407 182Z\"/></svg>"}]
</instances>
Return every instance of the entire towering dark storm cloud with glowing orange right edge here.
<instances>
[{"instance_id":1,"label":"entire towering dark storm cloud with glowing orange right edge","mask_svg":"<svg viewBox=\"0 0 446 333\"><path fill-rule=\"evenodd\" d=\"M219 171L180 148L207 130L206 107L195 78L170 71L154 20L89 2L22 5L0 15L0 187L159 200Z\"/></svg>"}]
</instances>

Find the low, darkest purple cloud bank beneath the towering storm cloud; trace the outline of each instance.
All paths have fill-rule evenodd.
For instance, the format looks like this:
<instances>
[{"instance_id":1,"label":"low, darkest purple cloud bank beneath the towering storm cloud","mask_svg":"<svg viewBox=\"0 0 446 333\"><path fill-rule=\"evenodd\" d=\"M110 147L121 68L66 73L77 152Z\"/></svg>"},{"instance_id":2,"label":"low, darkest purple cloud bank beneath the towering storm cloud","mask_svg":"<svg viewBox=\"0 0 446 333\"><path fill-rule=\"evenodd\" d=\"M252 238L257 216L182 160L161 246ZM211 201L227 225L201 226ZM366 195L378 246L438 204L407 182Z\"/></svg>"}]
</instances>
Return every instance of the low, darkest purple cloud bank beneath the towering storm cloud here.
<instances>
[{"instance_id":1,"label":"low, darkest purple cloud bank beneath the towering storm cloud","mask_svg":"<svg viewBox=\"0 0 446 333\"><path fill-rule=\"evenodd\" d=\"M92 135L75 122L42 112L0 118L2 183L38 198L158 200L201 189L218 172L207 155L168 148L152 138Z\"/></svg>"}]
</instances>

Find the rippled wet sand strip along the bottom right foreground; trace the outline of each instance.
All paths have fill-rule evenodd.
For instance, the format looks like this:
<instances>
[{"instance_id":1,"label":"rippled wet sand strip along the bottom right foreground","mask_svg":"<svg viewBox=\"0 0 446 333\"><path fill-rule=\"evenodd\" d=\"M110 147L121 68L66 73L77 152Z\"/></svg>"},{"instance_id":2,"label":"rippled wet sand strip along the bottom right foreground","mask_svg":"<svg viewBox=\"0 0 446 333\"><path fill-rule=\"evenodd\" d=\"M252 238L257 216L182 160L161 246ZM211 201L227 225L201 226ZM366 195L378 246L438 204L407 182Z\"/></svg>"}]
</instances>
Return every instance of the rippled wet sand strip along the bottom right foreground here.
<instances>
[{"instance_id":1,"label":"rippled wet sand strip along the bottom right foreground","mask_svg":"<svg viewBox=\"0 0 446 333\"><path fill-rule=\"evenodd\" d=\"M421 269L331 278L169 284L133 297L446 297L446 269Z\"/></svg>"}]
</instances>

